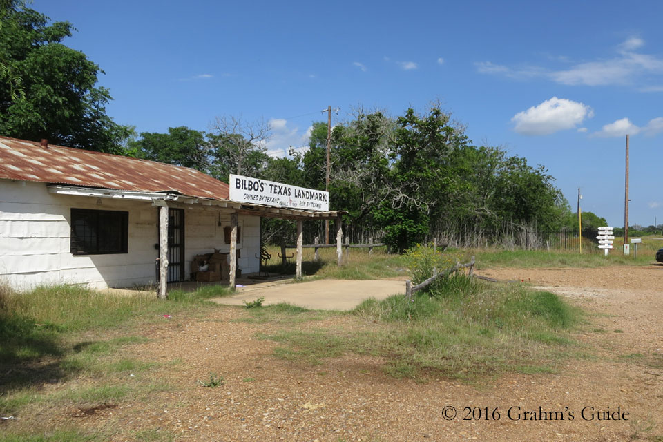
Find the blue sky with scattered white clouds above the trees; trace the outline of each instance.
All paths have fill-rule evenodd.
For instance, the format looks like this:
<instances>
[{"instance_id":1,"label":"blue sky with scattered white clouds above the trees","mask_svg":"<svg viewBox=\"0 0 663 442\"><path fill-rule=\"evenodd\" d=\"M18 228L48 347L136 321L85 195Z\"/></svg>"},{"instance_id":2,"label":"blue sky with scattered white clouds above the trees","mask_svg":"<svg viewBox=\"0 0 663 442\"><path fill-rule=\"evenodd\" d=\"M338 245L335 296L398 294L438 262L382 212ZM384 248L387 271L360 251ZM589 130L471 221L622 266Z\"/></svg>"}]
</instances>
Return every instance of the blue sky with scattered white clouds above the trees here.
<instances>
[{"instance_id":1,"label":"blue sky with scattered white clouds above the trees","mask_svg":"<svg viewBox=\"0 0 663 442\"><path fill-rule=\"evenodd\" d=\"M663 2L35 0L105 71L108 114L137 131L271 122L304 146L319 111L401 115L440 100L474 144L542 164L575 208L663 223Z\"/></svg>"}]
</instances>

